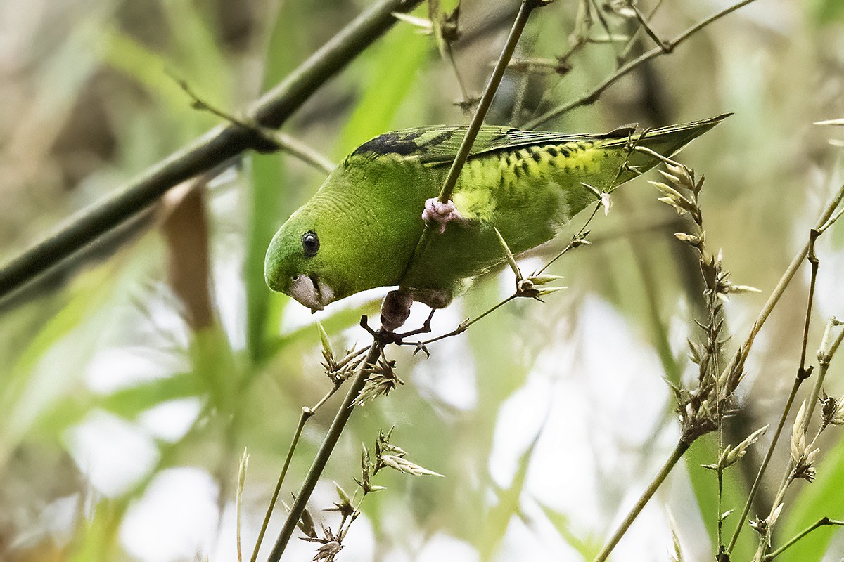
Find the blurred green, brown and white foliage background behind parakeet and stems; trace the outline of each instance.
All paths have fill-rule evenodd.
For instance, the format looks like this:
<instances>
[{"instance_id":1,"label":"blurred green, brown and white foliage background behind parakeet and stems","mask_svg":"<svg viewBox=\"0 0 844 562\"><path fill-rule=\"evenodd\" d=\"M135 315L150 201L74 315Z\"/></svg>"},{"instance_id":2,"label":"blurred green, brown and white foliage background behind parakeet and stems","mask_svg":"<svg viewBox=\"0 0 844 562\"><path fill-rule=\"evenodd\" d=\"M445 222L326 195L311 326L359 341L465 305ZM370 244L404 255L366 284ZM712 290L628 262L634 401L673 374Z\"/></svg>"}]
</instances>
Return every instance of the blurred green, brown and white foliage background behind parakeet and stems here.
<instances>
[{"instance_id":1,"label":"blurred green, brown and white foliage background behind parakeet and stems","mask_svg":"<svg viewBox=\"0 0 844 562\"><path fill-rule=\"evenodd\" d=\"M193 110L176 79L236 113L368 4L0 0L0 260L219 122ZM726 6L664 3L653 28L668 39ZM462 3L453 52L468 95L483 88L517 7ZM639 8L650 13L657 2ZM614 73L636 25L621 2L560 0L534 13L488 122L519 126L587 94ZM636 37L629 56L652 47L647 35ZM434 40L402 22L284 131L336 162L384 131L467 122L462 99ZM727 305L727 332L738 342L844 182L844 128L813 125L844 117L844 3L757 0L543 128L601 132L724 112L735 115L680 159L706 174L708 247L722 249L734 282L761 290ZM269 239L322 179L284 153L246 155L197 189L172 190L0 304L0 559L235 559L245 448L242 540L252 552L300 409L330 388L315 322L335 350L366 345L357 322L376 314L386 292L311 315L264 285ZM585 220L525 257L524 269L559 251ZM394 426L392 442L446 478L378 474L387 490L367 497L338 559L592 559L679 436L666 379L694 379L686 339L700 336L693 318L703 318L696 256L673 235L684 228L637 179L614 194L609 217L592 222L593 244L553 266L566 291L544 304L512 302L431 345L430 358L389 350L406 384L354 414L313 511L337 500L332 480L354 490L360 443L371 448L379 429ZM826 319L844 315L842 243L839 226L818 244L810 357ZM808 280L802 270L757 340L728 442L776 423L782 411ZM508 271L475 282L436 314L435 333L506 297L511 283ZM410 325L426 314L414 308ZM826 390L840 395L837 361ZM306 426L284 500L337 405L328 402ZM844 517L836 429L821 443L816 481L787 495L781 541L820 517ZM724 511L743 505L766 439L729 473ZM699 465L715 462L716 444L714 436L695 443L614 559L668 560L673 532L684 559L713 558L715 478ZM783 445L751 514L770 509L787 463ZM336 513L323 515L336 525ZM283 519L279 508L259 559ZM728 518L729 532L733 525ZM744 532L735 559L755 549L751 535ZM314 551L294 541L285 559ZM782 559L839 560L844 533L820 530L789 554Z\"/></svg>"}]
</instances>

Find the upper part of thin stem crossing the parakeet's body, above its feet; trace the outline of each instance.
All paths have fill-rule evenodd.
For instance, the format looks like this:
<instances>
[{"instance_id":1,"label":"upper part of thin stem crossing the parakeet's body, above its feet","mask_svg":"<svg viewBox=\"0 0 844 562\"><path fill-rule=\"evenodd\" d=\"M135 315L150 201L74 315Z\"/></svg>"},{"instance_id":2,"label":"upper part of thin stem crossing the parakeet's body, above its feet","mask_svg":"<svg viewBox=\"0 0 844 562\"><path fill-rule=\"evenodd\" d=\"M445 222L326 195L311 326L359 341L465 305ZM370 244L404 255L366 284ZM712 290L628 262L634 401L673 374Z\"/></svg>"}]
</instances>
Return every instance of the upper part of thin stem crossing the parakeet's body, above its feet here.
<instances>
[{"instance_id":1,"label":"upper part of thin stem crossing the parakeet's body, above its feet","mask_svg":"<svg viewBox=\"0 0 844 562\"><path fill-rule=\"evenodd\" d=\"M478 107L469 123L466 136L463 137L463 142L460 143L457 155L454 157L454 161L452 162L452 167L448 170L446 181L443 183L440 195L437 197L441 203L446 203L452 197L454 187L457 185L457 178L460 177L460 172L463 171L463 164L466 163L469 151L472 150L472 145L474 144L475 138L478 136L478 131L480 131L480 127L484 123L484 117L486 117L487 111L490 110L492 100L495 98L495 92L498 91L498 86L501 83L501 78L504 77L504 71L510 63L513 51L516 51L516 45L519 38L522 36L525 24L527 24L527 18L530 16L531 12L533 12L533 8L538 8L542 5L544 5L542 0L522 0L522 5L519 7L519 11L516 14L516 20L513 22L513 26L510 29L510 35L507 36L504 49L498 57L498 62L495 63L495 68L493 68L492 74L490 74L490 78L484 88L484 94L481 96L481 99L478 102ZM422 255L425 248L428 246L430 235L431 229L426 224L425 229L422 231L422 235L419 237L419 242L416 244L414 253L410 256L410 261L408 261L408 266L402 276L402 279L408 278L410 273L413 271L414 265L419 261L419 256Z\"/></svg>"}]
</instances>

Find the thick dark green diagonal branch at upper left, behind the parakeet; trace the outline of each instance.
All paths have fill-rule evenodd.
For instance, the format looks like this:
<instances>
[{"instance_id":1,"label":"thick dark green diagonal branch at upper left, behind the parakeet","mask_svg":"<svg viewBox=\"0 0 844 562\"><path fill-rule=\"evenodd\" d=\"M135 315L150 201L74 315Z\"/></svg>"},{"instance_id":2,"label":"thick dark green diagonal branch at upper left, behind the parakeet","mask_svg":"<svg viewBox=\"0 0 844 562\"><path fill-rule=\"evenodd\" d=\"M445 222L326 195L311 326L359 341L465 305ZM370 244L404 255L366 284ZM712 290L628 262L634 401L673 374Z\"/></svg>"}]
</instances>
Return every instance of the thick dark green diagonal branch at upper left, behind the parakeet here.
<instances>
[{"instance_id":1,"label":"thick dark green diagonal branch at upper left, behind the parakeet","mask_svg":"<svg viewBox=\"0 0 844 562\"><path fill-rule=\"evenodd\" d=\"M381 0L361 13L275 88L257 100L246 115L263 127L278 128L361 51L421 0ZM203 136L147 169L115 195L71 217L56 233L26 249L0 268L0 298L31 281L100 235L152 206L171 187L224 163L244 151L261 147L255 131L229 124Z\"/></svg>"}]
</instances>

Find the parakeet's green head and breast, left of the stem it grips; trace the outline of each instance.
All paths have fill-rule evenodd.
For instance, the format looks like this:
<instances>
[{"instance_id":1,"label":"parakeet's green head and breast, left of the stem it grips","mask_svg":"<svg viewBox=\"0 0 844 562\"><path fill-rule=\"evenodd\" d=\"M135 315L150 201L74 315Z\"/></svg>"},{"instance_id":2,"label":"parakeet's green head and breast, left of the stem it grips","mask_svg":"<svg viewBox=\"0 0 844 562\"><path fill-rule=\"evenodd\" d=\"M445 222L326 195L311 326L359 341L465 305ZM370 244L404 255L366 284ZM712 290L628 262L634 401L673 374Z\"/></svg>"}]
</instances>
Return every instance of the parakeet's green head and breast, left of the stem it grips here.
<instances>
[{"instance_id":1,"label":"parakeet's green head and breast, left of the stem it grips","mask_svg":"<svg viewBox=\"0 0 844 562\"><path fill-rule=\"evenodd\" d=\"M264 278L311 310L376 286L398 283L422 222L414 206L396 211L378 166L346 162L284 222L269 244ZM415 219L415 220L414 220ZM408 228L410 228L408 230Z\"/></svg>"}]
</instances>

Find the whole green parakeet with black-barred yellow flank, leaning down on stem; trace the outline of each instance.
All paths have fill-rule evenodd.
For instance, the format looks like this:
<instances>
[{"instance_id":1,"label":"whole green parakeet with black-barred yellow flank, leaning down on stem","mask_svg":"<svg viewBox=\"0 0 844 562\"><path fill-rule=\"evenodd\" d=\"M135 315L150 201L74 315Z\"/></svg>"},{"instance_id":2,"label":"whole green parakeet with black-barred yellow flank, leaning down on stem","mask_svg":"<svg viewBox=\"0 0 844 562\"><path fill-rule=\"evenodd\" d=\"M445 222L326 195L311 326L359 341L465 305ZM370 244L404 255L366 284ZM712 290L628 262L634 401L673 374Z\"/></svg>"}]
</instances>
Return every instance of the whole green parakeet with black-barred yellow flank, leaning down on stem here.
<instances>
[{"instance_id":1,"label":"whole green parakeet with black-barred yellow flank, leaning down on stem","mask_svg":"<svg viewBox=\"0 0 844 562\"><path fill-rule=\"evenodd\" d=\"M571 135L484 126L447 204L435 198L466 127L376 136L284 222L264 276L311 310L378 286L400 286L392 308L409 310L414 300L445 307L463 281L506 260L495 228L513 254L544 244L596 201L596 190L609 193L659 163L654 153L671 156L726 116L644 134L634 127ZM408 269L426 221L440 226ZM393 329L406 317L385 323L382 314L381 321Z\"/></svg>"}]
</instances>

